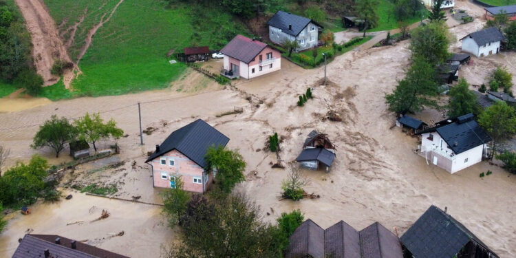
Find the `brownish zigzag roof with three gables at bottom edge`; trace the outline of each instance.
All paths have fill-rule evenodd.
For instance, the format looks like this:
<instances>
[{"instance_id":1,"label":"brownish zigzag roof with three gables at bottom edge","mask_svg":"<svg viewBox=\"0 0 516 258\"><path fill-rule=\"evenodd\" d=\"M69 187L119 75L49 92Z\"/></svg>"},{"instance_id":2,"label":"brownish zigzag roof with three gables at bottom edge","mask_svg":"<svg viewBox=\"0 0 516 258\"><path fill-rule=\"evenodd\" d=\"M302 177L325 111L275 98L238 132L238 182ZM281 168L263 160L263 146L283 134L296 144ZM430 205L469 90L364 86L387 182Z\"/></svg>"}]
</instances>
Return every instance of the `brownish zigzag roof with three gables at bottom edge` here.
<instances>
[{"instance_id":1,"label":"brownish zigzag roof with three gables at bottom edge","mask_svg":"<svg viewBox=\"0 0 516 258\"><path fill-rule=\"evenodd\" d=\"M323 229L311 219L290 236L286 258L402 258L400 240L375 222L361 231L341 221Z\"/></svg>"}]
</instances>

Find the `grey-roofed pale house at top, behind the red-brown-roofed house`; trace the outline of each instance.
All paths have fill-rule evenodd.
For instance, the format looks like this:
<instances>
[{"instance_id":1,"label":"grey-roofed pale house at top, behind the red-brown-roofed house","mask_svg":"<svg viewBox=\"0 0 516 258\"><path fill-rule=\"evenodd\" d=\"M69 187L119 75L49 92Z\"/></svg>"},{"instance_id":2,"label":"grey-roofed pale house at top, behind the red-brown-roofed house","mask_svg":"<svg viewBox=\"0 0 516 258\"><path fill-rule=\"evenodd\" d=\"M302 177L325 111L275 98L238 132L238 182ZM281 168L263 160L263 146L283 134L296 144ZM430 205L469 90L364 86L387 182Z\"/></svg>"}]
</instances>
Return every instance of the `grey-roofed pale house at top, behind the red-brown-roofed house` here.
<instances>
[{"instance_id":1,"label":"grey-roofed pale house at top, behind the red-brown-roofed house","mask_svg":"<svg viewBox=\"0 0 516 258\"><path fill-rule=\"evenodd\" d=\"M323 28L311 19L283 11L276 12L267 25L270 41L279 45L286 41L297 41L299 47L296 51L316 47L319 30Z\"/></svg>"}]
</instances>

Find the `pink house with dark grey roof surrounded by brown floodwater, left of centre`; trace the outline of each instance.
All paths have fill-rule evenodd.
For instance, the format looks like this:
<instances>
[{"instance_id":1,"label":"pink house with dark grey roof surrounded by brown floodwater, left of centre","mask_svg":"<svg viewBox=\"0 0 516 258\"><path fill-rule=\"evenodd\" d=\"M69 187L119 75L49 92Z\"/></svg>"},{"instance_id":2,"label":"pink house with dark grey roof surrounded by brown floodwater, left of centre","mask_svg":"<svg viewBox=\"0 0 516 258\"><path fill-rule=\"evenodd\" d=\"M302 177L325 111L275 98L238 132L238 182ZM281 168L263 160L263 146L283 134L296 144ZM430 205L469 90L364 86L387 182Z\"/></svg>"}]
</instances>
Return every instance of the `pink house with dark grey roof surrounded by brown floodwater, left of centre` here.
<instances>
[{"instance_id":1,"label":"pink house with dark grey roof surrounded by brown floodwater, left of centre","mask_svg":"<svg viewBox=\"0 0 516 258\"><path fill-rule=\"evenodd\" d=\"M175 188L181 178L185 191L206 192L214 176L204 171L206 151L228 142L229 138L201 119L173 131L145 162L151 165L153 186Z\"/></svg>"}]
</instances>

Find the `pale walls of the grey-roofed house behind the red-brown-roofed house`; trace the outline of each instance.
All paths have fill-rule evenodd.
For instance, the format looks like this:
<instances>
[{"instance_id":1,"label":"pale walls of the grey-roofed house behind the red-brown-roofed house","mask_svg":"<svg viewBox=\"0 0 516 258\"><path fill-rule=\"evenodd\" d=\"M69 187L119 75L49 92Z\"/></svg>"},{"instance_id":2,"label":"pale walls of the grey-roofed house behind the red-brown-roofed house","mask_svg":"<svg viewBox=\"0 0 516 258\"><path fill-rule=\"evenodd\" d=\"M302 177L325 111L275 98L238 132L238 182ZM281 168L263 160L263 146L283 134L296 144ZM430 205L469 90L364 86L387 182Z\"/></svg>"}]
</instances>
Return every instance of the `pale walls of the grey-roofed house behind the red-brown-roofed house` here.
<instances>
[{"instance_id":1,"label":"pale walls of the grey-roofed house behind the red-brown-roofed house","mask_svg":"<svg viewBox=\"0 0 516 258\"><path fill-rule=\"evenodd\" d=\"M312 28L314 28L314 30L312 30ZM299 35L294 38L294 36L290 36L289 34L282 32L279 28L269 25L269 39L279 45L282 45L287 39L289 41L296 39L299 43L297 51L308 50L317 45L317 40L319 39L319 26L310 22L301 32L299 32ZM303 40L304 43L302 44Z\"/></svg>"}]
</instances>

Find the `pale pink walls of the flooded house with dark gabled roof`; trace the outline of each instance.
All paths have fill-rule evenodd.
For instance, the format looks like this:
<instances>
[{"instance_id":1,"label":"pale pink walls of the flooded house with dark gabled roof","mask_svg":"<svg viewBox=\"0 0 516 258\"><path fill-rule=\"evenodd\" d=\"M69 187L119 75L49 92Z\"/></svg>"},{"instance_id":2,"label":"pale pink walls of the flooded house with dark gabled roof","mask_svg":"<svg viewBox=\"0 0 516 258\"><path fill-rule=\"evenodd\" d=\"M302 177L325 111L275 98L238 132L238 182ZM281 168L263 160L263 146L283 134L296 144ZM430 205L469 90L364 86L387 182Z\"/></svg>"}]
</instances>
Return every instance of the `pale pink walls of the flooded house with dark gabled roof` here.
<instances>
[{"instance_id":1,"label":"pale pink walls of the flooded house with dark gabled roof","mask_svg":"<svg viewBox=\"0 0 516 258\"><path fill-rule=\"evenodd\" d=\"M161 164L161 158L166 159L166 164ZM169 160L174 161L173 166L170 165ZM213 182L213 173L209 173L206 180L204 169L175 149L155 158L149 164L153 168L154 187L170 188L171 177L181 177L185 191L203 193L203 184L206 191ZM162 175L166 175L166 179L163 179ZM201 178L203 183L194 183L194 177Z\"/></svg>"}]
</instances>

